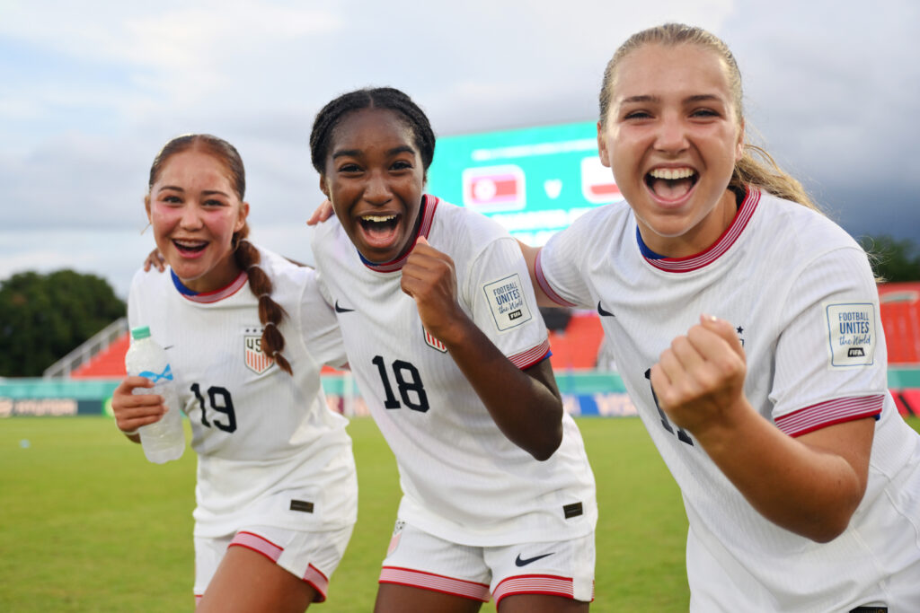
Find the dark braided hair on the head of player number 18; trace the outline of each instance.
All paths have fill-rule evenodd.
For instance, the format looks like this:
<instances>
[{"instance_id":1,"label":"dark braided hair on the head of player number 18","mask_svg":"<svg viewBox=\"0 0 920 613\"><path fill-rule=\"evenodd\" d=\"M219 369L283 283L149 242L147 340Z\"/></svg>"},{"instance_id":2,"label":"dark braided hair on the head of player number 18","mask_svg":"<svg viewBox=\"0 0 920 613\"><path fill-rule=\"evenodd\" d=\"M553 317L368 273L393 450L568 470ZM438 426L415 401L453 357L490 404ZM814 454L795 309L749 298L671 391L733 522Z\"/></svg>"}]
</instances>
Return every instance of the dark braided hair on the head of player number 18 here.
<instances>
[{"instance_id":1,"label":"dark braided hair on the head of player number 18","mask_svg":"<svg viewBox=\"0 0 920 613\"><path fill-rule=\"evenodd\" d=\"M434 158L434 131L424 111L412 98L394 87L366 87L342 94L329 102L318 113L310 132L310 159L316 172L322 175L326 170L326 158L332 133L339 121L349 113L363 108L385 108L392 110L406 121L412 131L415 146L419 150L421 165L427 175Z\"/></svg>"}]
</instances>

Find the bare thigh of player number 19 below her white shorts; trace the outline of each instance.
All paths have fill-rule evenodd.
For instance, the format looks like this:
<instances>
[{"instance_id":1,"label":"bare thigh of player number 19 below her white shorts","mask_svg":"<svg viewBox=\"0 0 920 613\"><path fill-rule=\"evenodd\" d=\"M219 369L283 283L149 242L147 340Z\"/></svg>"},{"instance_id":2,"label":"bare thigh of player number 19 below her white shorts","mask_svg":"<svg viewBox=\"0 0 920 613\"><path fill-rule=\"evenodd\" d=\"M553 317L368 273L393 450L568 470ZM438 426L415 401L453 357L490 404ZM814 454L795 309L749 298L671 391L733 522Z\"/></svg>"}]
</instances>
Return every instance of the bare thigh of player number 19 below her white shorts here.
<instances>
[{"instance_id":1,"label":"bare thigh of player number 19 below her white shorts","mask_svg":"<svg viewBox=\"0 0 920 613\"><path fill-rule=\"evenodd\" d=\"M315 596L313 585L261 553L245 547L229 547L196 611L303 613Z\"/></svg>"}]
</instances>

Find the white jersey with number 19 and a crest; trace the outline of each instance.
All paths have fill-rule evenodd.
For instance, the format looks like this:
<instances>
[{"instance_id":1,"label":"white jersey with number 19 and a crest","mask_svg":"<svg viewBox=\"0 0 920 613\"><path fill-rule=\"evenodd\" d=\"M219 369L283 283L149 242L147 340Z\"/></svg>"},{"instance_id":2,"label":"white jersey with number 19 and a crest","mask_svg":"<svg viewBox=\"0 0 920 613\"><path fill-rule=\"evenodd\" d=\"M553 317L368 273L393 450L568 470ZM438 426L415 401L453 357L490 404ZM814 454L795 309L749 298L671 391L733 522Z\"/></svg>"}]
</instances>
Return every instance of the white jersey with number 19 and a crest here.
<instances>
[{"instance_id":1,"label":"white jersey with number 19 and a crest","mask_svg":"<svg viewBox=\"0 0 920 613\"><path fill-rule=\"evenodd\" d=\"M225 289L183 295L171 271L140 270L128 318L167 348L198 453L195 536L246 524L294 530L343 528L357 517L351 437L328 409L323 364L345 358L335 315L316 271L259 249L271 297L288 316L282 354L293 376L261 351L257 298L246 273ZM281 494L281 495L279 495Z\"/></svg>"}]
</instances>

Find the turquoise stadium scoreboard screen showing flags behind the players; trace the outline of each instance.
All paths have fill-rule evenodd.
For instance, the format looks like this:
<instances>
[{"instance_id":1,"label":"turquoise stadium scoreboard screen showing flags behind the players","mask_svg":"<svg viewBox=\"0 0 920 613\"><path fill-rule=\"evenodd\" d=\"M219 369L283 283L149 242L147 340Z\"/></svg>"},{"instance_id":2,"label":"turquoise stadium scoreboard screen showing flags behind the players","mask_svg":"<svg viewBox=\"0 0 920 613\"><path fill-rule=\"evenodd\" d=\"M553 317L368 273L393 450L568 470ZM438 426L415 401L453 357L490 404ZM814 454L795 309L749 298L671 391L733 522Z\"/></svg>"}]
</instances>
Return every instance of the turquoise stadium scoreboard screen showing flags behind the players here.
<instances>
[{"instance_id":1,"label":"turquoise stadium scoreboard screen showing flags behind the players","mask_svg":"<svg viewBox=\"0 0 920 613\"><path fill-rule=\"evenodd\" d=\"M428 191L541 245L579 215L622 199L593 121L438 138Z\"/></svg>"}]
</instances>

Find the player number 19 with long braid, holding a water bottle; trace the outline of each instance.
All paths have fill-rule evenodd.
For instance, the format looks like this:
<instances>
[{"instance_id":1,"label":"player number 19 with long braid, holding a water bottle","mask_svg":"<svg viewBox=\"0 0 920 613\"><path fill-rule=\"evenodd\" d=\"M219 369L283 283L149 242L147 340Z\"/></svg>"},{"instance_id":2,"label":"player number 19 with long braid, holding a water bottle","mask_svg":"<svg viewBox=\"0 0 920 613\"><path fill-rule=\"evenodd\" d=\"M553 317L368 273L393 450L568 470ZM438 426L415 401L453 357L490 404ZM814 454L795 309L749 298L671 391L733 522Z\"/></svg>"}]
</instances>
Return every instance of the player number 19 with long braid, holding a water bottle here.
<instances>
[{"instance_id":1,"label":"player number 19 with long braid, holding a water bottle","mask_svg":"<svg viewBox=\"0 0 920 613\"><path fill-rule=\"evenodd\" d=\"M167 143L144 204L170 270L138 271L128 318L166 346L191 423L197 609L300 612L326 599L357 518L347 420L319 380L345 357L315 271L248 242L245 189L230 143ZM134 442L164 412L152 385L128 377L112 398Z\"/></svg>"}]
</instances>

